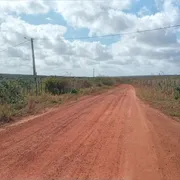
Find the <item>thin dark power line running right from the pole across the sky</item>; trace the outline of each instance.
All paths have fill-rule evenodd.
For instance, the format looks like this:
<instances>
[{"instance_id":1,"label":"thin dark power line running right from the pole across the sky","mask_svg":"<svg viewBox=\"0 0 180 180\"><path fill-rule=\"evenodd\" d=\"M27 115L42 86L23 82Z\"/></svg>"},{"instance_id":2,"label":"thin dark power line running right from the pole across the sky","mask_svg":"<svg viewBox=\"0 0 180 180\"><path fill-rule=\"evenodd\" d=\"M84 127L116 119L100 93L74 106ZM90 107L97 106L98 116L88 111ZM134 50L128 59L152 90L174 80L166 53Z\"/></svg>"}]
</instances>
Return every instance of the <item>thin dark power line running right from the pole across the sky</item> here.
<instances>
[{"instance_id":1,"label":"thin dark power line running right from the pole across the sky","mask_svg":"<svg viewBox=\"0 0 180 180\"><path fill-rule=\"evenodd\" d=\"M134 31L134 32L127 32L127 33L107 34L107 35L101 35L101 36L67 37L67 38L65 38L65 40L116 37L116 36L124 36L124 35L140 34L140 33L152 32L152 31L159 31L159 30L170 29L170 28L178 28L178 27L180 27L180 24L172 25L172 26L159 27L159 28L154 28L154 29L145 29L145 30L139 30L139 31ZM37 39L37 40L49 40L49 39L42 38L42 39Z\"/></svg>"}]
</instances>

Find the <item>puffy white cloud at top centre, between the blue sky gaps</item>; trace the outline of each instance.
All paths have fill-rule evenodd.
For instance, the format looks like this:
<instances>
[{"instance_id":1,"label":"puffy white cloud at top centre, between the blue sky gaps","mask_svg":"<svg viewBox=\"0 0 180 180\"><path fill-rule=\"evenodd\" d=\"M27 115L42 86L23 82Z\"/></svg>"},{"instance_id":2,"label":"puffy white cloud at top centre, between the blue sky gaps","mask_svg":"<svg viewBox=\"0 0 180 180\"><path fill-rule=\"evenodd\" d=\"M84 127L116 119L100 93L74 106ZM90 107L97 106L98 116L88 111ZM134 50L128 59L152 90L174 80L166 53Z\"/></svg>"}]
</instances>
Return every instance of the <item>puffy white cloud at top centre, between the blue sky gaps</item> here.
<instances>
[{"instance_id":1,"label":"puffy white cloud at top centre, between the blue sky gaps","mask_svg":"<svg viewBox=\"0 0 180 180\"><path fill-rule=\"evenodd\" d=\"M117 33L132 27L135 16L123 12L132 5L123 1L60 1L56 11L75 28L88 28L90 35ZM103 28L102 28L103 27Z\"/></svg>"}]
</instances>

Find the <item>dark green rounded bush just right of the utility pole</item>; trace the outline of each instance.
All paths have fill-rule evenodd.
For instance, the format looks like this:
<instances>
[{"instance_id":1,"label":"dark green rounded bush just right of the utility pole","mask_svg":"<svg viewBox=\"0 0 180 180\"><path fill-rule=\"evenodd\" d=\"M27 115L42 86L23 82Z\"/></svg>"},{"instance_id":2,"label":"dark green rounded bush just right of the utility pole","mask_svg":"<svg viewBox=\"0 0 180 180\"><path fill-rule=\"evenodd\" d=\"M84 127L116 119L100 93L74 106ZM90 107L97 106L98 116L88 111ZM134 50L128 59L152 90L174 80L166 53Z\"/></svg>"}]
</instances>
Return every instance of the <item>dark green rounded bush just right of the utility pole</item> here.
<instances>
[{"instance_id":1,"label":"dark green rounded bush just right of the utility pole","mask_svg":"<svg viewBox=\"0 0 180 180\"><path fill-rule=\"evenodd\" d=\"M48 78L45 80L45 90L53 95L70 92L70 81L68 79Z\"/></svg>"}]
</instances>

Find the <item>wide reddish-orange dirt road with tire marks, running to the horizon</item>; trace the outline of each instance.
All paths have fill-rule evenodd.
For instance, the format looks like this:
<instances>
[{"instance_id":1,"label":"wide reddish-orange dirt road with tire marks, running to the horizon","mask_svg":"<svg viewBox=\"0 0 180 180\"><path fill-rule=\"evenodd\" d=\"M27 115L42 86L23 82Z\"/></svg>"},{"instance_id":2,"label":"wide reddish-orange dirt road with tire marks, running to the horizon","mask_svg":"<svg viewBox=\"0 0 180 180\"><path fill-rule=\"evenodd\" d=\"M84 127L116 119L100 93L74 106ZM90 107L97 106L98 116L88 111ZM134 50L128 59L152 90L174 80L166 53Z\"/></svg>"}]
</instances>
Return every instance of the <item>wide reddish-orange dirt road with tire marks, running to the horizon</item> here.
<instances>
[{"instance_id":1,"label":"wide reddish-orange dirt road with tire marks, running to the horizon","mask_svg":"<svg viewBox=\"0 0 180 180\"><path fill-rule=\"evenodd\" d=\"M0 179L180 180L180 123L132 86L0 131Z\"/></svg>"}]
</instances>

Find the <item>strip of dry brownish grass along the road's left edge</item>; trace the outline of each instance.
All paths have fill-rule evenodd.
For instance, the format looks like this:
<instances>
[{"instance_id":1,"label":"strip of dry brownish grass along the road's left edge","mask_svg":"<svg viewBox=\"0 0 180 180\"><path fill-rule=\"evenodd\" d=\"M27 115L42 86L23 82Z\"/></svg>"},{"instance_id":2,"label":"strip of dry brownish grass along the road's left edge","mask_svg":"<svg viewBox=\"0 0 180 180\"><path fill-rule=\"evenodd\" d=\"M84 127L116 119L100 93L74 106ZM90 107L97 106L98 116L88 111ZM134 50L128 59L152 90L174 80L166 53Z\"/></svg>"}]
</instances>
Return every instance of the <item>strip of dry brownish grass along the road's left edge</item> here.
<instances>
[{"instance_id":1,"label":"strip of dry brownish grass along the road's left edge","mask_svg":"<svg viewBox=\"0 0 180 180\"><path fill-rule=\"evenodd\" d=\"M91 87L80 89L75 93L52 95L43 93L39 96L27 96L23 102L15 104L0 104L0 124L19 120L29 115L46 112L49 108L58 107L68 102L76 101L80 97L90 94L100 94L107 91L110 86Z\"/></svg>"}]
</instances>

